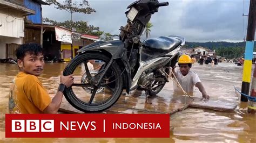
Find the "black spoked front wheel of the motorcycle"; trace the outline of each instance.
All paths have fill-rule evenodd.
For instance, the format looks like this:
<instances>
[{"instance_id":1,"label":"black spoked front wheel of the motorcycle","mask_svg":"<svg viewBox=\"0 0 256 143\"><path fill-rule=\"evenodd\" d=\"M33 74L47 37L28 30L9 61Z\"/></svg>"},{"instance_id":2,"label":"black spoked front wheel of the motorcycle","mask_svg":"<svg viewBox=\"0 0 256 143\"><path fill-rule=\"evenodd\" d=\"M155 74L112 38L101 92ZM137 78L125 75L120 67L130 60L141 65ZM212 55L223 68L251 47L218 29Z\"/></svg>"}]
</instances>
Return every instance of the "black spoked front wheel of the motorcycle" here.
<instances>
[{"instance_id":1,"label":"black spoked front wheel of the motorcycle","mask_svg":"<svg viewBox=\"0 0 256 143\"><path fill-rule=\"evenodd\" d=\"M104 74L109 62L110 58L102 53L85 53L77 55L66 66L63 74L73 74L74 84L65 90L64 96L73 107L83 112L100 112L118 101L123 87L122 71L113 61Z\"/></svg>"}]
</instances>

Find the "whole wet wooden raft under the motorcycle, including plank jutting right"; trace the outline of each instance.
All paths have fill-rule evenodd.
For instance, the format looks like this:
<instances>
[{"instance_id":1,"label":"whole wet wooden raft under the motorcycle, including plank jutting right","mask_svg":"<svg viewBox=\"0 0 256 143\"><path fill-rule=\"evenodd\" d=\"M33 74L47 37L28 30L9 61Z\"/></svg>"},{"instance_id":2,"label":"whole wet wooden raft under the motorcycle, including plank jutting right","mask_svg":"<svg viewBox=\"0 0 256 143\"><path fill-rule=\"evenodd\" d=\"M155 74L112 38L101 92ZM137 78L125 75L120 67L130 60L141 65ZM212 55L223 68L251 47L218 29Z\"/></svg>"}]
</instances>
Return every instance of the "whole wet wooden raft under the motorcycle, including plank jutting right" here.
<instances>
[{"instance_id":1,"label":"whole wet wooden raft under the motorcycle, including plank jutting right","mask_svg":"<svg viewBox=\"0 0 256 143\"><path fill-rule=\"evenodd\" d=\"M149 97L149 103L146 103L145 94L130 94L130 95L121 95L117 103L115 103L111 108L103 111L102 113L175 113L177 111L182 111L183 108L193 107L201 109L211 109L218 111L233 111L237 108L235 103L227 103L221 101L200 101L200 98L186 97L186 107L184 104L184 96L167 96L159 95ZM60 105L60 112L65 113L84 113L73 108L72 105L63 98L62 104Z\"/></svg>"}]
</instances>

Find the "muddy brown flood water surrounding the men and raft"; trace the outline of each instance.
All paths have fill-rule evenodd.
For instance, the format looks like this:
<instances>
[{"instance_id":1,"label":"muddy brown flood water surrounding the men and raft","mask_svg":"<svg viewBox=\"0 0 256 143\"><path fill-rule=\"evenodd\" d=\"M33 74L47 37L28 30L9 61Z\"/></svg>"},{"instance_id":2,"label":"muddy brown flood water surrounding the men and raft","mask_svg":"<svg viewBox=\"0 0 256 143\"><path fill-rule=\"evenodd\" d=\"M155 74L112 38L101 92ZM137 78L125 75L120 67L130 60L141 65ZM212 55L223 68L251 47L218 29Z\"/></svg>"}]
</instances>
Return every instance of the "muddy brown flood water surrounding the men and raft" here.
<instances>
[{"instance_id":1,"label":"muddy brown flood water surrounding the men and raft","mask_svg":"<svg viewBox=\"0 0 256 143\"><path fill-rule=\"evenodd\" d=\"M66 63L46 63L40 80L49 94L56 93L60 71ZM247 114L247 103L240 103L242 66L234 63L193 65L211 100L238 103L233 112L188 108L170 116L170 138L5 138L5 113L11 81L18 73L17 65L0 63L0 142L256 142L256 116ZM172 81L158 94L170 94ZM200 97L196 88L194 96Z\"/></svg>"}]
</instances>

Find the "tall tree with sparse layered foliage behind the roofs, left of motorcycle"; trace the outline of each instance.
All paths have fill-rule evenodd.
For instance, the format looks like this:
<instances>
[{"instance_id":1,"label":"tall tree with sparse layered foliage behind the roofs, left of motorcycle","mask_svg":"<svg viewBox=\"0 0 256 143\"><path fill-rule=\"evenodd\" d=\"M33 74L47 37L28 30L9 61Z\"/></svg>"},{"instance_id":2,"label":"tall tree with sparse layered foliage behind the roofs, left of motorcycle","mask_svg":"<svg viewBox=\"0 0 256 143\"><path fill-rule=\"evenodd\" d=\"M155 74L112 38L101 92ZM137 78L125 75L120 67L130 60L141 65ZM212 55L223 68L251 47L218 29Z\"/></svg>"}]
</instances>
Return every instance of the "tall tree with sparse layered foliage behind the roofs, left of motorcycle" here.
<instances>
[{"instance_id":1,"label":"tall tree with sparse layered foliage behind the roofs, left of motorcycle","mask_svg":"<svg viewBox=\"0 0 256 143\"><path fill-rule=\"evenodd\" d=\"M55 5L56 9L68 11L71 14L71 20L57 22L56 20L44 18L44 22L50 23L52 25L64 26L66 28L69 28L70 30L75 30L82 33L88 33L93 35L101 35L103 33L103 31L99 30L99 27L88 25L87 22L84 22L82 20L78 22L73 21L73 13L91 14L93 12L96 12L95 9L90 8L90 5L86 0L83 0L82 2L72 2L72 0L65 0L63 3L59 3L56 0L46 0L46 2Z\"/></svg>"}]
</instances>

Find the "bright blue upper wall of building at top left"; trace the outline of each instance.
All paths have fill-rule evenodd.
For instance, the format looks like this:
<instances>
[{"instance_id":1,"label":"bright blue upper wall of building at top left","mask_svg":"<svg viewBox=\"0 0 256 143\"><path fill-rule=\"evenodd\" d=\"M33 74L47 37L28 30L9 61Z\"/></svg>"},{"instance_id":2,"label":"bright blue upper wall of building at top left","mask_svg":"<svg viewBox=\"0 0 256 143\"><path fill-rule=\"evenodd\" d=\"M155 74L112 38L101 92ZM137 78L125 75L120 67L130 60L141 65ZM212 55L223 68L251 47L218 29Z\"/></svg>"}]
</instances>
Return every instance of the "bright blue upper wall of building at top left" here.
<instances>
[{"instance_id":1,"label":"bright blue upper wall of building at top left","mask_svg":"<svg viewBox=\"0 0 256 143\"><path fill-rule=\"evenodd\" d=\"M26 8L35 10L35 15L26 16L28 20L32 23L41 23L41 5L33 2L32 0L24 0L24 5Z\"/></svg>"}]
</instances>

